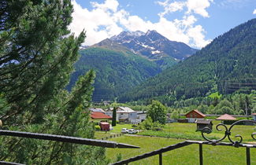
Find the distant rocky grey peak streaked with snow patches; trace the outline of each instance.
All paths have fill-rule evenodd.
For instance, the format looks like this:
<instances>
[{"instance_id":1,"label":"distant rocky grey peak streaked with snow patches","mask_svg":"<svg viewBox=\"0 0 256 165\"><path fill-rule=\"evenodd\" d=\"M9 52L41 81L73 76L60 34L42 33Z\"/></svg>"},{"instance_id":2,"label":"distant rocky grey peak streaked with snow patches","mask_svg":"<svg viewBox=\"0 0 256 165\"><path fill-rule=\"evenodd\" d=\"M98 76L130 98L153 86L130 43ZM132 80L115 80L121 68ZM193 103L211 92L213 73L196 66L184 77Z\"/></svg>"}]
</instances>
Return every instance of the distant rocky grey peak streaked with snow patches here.
<instances>
[{"instance_id":1,"label":"distant rocky grey peak streaked with snow patches","mask_svg":"<svg viewBox=\"0 0 256 165\"><path fill-rule=\"evenodd\" d=\"M131 49L133 53L154 61L161 68L168 68L176 61L184 60L197 51L183 42L170 41L157 31L147 31L147 33L123 31L110 40Z\"/></svg>"}]
</instances>

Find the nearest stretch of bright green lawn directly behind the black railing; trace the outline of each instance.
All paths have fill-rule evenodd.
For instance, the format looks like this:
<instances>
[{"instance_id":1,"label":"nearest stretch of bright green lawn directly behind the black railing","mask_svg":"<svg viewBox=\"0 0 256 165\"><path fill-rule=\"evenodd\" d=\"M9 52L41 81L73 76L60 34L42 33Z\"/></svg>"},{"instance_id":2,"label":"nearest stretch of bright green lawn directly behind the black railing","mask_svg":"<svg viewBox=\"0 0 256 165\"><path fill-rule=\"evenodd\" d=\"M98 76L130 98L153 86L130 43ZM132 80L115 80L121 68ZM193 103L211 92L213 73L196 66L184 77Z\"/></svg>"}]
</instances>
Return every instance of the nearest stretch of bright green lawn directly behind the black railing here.
<instances>
[{"instance_id":1,"label":"nearest stretch of bright green lawn directly behind the black railing","mask_svg":"<svg viewBox=\"0 0 256 165\"><path fill-rule=\"evenodd\" d=\"M173 138L156 137L132 137L122 136L112 138L111 141L117 141L130 145L139 145L140 148L107 148L106 156L111 163L117 161L117 154L121 154L121 159L128 159L138 156L145 152L151 152L155 149L173 145L184 141ZM204 164L246 164L246 148L235 148L227 146L203 145ZM250 149L251 164L256 164L256 148ZM188 145L170 152L163 153L163 164L198 164L198 145ZM158 164L158 156L139 160L129 164Z\"/></svg>"}]
</instances>

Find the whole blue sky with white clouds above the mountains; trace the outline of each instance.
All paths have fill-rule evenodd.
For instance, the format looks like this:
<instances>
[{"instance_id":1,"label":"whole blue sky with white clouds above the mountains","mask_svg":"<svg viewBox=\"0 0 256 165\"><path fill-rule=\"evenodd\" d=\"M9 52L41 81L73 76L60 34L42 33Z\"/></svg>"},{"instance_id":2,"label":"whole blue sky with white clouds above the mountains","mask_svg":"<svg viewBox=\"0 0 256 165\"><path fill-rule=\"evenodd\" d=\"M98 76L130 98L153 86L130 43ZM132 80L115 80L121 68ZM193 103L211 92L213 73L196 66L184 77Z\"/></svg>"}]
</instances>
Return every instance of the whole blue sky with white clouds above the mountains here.
<instances>
[{"instance_id":1,"label":"whole blue sky with white clouds above the mountains","mask_svg":"<svg viewBox=\"0 0 256 165\"><path fill-rule=\"evenodd\" d=\"M72 0L71 31L87 31L92 45L121 31L156 30L202 48L213 38L256 18L256 0Z\"/></svg>"}]
</instances>

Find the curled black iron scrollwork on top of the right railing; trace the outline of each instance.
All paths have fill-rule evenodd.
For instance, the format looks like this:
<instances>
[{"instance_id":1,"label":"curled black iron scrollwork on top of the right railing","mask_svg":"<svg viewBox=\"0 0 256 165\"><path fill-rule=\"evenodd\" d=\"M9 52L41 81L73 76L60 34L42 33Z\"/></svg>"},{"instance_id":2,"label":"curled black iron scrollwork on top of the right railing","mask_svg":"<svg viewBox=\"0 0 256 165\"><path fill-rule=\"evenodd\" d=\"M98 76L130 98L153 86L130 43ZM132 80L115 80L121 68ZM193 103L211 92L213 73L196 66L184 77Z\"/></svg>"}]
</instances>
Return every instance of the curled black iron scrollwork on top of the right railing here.
<instances>
[{"instance_id":1,"label":"curled black iron scrollwork on top of the right railing","mask_svg":"<svg viewBox=\"0 0 256 165\"><path fill-rule=\"evenodd\" d=\"M225 130L224 136L222 138L217 139L217 140L206 138L205 134L210 134L212 132L212 130L210 130L210 128L208 128L208 127L202 129L202 131L201 131L202 138L206 139L206 141L212 142L213 145L216 145L217 142L223 141L225 138L228 137L228 140L230 142L232 142L233 145L238 147L239 144L242 143L243 137L241 135L237 134L235 136L235 138L239 138L239 141L233 141L232 138L231 138L231 130L232 130L232 127L238 125L238 123L244 123L244 122L256 123L256 121L254 121L254 120L242 119L242 120L239 120L235 123L232 123L232 125L229 128L226 125L224 125L223 123L219 123L216 126L216 130L221 131L220 127L224 127L224 130ZM256 141L256 133L251 134L251 138L253 138Z\"/></svg>"}]
</instances>

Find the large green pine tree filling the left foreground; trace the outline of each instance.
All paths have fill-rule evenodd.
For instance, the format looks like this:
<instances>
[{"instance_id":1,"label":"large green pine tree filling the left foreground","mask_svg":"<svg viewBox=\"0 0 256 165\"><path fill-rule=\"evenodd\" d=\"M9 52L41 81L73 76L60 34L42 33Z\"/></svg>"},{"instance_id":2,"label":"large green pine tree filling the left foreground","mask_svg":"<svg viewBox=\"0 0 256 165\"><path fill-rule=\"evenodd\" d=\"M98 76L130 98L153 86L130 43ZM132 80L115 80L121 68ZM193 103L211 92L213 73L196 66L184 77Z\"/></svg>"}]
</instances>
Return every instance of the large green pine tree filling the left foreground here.
<instances>
[{"instance_id":1,"label":"large green pine tree filling the left foreground","mask_svg":"<svg viewBox=\"0 0 256 165\"><path fill-rule=\"evenodd\" d=\"M89 123L94 72L72 92L73 64L85 33L76 38L70 0L0 2L0 101L6 130L93 138ZM104 149L25 138L1 138L0 159L26 164L104 163ZM26 146L26 147L24 147ZM86 159L86 160L85 160Z\"/></svg>"}]
</instances>

